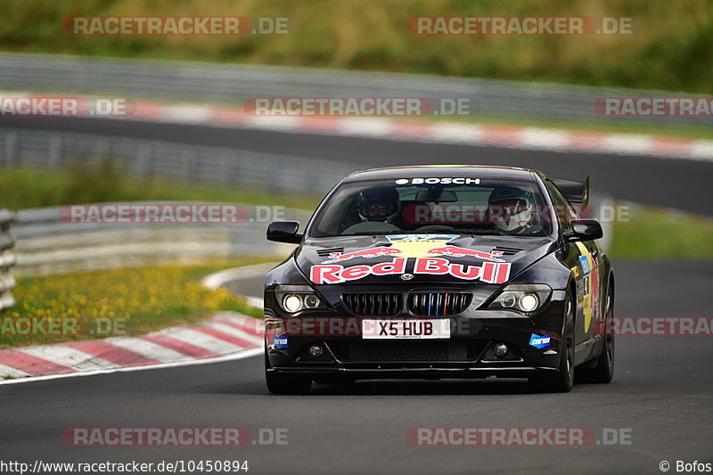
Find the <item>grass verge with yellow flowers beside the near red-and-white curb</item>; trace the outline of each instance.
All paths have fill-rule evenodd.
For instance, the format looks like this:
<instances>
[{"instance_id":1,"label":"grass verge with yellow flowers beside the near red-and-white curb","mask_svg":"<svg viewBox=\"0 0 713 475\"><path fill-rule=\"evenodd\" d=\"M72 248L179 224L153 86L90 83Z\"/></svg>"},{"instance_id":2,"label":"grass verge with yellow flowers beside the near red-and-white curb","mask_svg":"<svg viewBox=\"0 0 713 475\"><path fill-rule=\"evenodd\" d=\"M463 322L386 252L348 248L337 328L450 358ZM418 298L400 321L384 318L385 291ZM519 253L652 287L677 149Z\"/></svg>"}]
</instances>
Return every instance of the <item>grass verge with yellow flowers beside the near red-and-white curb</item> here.
<instances>
[{"instance_id":1,"label":"grass verge with yellow flowers beside the near red-and-white curb","mask_svg":"<svg viewBox=\"0 0 713 475\"><path fill-rule=\"evenodd\" d=\"M122 268L20 278L12 291L17 304L2 321L0 348L89 340L97 338L97 334L138 335L172 325L200 322L220 310L261 318L262 309L251 307L225 289L206 289L200 280L226 267L274 260L274 257L210 259L190 266ZM17 317L64 317L78 322L79 334L18 334L17 327L13 330L7 326L17 323ZM82 334L87 331L94 334Z\"/></svg>"}]
</instances>

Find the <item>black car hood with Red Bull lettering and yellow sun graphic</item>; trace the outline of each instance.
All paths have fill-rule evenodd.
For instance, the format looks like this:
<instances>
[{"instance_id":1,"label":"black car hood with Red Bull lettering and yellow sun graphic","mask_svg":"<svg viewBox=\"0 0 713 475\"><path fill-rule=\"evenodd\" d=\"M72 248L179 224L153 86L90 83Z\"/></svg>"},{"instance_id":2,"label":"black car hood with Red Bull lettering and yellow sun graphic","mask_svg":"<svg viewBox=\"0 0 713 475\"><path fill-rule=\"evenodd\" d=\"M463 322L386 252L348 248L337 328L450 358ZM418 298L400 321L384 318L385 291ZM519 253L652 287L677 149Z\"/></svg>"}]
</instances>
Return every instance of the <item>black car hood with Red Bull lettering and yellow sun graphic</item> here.
<instances>
[{"instance_id":1,"label":"black car hood with Red Bull lettering and yellow sun graphic","mask_svg":"<svg viewBox=\"0 0 713 475\"><path fill-rule=\"evenodd\" d=\"M505 283L553 250L550 237L397 234L308 238L294 258L314 284Z\"/></svg>"}]
</instances>

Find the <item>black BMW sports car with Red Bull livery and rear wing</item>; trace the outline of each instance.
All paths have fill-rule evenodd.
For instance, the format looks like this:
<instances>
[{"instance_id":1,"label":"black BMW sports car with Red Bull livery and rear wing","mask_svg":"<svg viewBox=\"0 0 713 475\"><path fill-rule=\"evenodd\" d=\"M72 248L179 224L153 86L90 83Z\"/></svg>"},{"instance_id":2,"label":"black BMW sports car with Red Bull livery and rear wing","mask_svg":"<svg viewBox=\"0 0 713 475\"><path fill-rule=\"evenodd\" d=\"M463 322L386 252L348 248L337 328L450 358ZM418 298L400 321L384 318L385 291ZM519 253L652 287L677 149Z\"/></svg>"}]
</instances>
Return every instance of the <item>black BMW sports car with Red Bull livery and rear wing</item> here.
<instances>
[{"instance_id":1,"label":"black BMW sports car with Red Bull livery and rear wing","mask_svg":"<svg viewBox=\"0 0 713 475\"><path fill-rule=\"evenodd\" d=\"M266 382L528 378L611 381L614 302L585 182L480 166L380 168L337 184L266 275Z\"/></svg>"}]
</instances>

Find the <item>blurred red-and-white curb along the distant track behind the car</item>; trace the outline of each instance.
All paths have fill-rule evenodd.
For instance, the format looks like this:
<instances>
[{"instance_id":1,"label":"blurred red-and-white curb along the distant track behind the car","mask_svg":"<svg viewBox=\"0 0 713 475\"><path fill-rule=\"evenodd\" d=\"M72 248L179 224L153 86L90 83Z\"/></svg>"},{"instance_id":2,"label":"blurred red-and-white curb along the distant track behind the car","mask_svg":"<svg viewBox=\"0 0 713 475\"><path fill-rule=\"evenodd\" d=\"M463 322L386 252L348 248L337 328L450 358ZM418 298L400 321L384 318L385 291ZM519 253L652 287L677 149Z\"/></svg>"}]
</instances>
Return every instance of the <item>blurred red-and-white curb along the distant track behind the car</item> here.
<instances>
[{"instance_id":1,"label":"blurred red-and-white curb along the distant track behind the car","mask_svg":"<svg viewBox=\"0 0 713 475\"><path fill-rule=\"evenodd\" d=\"M552 152L597 152L646 155L669 159L713 160L713 140L695 140L667 135L607 134L544 127L493 126L446 120L265 117L247 114L241 107L142 101L136 102L134 114L121 119Z\"/></svg>"}]
</instances>

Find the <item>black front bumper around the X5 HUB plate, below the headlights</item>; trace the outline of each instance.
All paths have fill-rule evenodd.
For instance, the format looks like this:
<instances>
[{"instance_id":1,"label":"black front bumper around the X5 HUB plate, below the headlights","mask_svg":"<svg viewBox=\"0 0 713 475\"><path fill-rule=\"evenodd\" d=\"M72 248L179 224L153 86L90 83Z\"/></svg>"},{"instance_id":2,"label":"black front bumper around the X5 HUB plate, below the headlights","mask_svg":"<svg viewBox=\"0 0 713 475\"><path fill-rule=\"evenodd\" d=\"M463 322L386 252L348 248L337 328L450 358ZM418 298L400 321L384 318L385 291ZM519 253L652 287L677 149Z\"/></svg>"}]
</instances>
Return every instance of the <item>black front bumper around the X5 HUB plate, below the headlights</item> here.
<instances>
[{"instance_id":1,"label":"black front bumper around the X5 HUB plate, below the headlights","mask_svg":"<svg viewBox=\"0 0 713 475\"><path fill-rule=\"evenodd\" d=\"M364 340L361 321L373 317L268 315L266 370L351 380L526 378L533 373L553 372L561 359L563 299L563 291L554 291L537 315L474 310L447 317L451 324L451 338L447 340ZM533 335L549 336L549 344L544 348L532 346ZM506 356L495 355L497 343L507 345ZM310 355L308 348L312 346L322 348L322 355Z\"/></svg>"}]
</instances>

